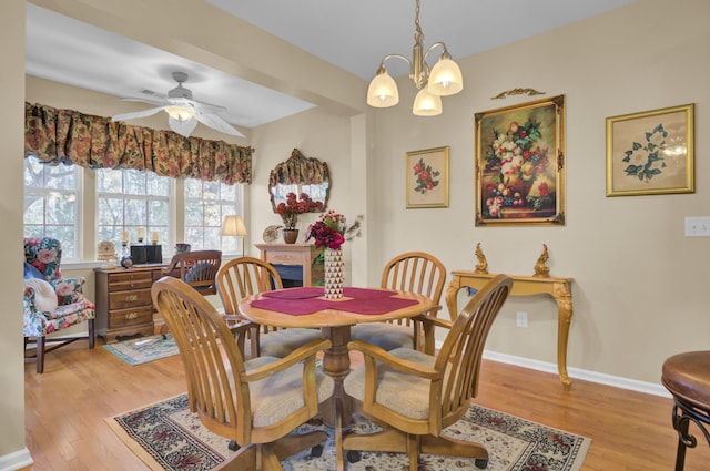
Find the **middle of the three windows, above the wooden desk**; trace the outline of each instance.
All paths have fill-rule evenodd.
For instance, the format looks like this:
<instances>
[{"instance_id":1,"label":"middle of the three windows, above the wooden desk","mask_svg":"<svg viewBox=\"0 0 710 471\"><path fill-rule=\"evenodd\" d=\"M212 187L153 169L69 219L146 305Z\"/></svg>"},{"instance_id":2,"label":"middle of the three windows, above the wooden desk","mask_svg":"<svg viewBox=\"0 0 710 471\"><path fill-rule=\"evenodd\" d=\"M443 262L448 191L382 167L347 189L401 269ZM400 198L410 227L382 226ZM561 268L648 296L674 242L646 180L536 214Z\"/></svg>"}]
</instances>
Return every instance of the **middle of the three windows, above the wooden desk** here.
<instances>
[{"instance_id":1,"label":"middle of the three windows, above the wooden desk","mask_svg":"<svg viewBox=\"0 0 710 471\"><path fill-rule=\"evenodd\" d=\"M153 172L135 170L97 170L97 239L111 240L121 247L122 234L139 243L142 232L148 243L150 234L159 233L166 248L170 240L173 181Z\"/></svg>"}]
</instances>

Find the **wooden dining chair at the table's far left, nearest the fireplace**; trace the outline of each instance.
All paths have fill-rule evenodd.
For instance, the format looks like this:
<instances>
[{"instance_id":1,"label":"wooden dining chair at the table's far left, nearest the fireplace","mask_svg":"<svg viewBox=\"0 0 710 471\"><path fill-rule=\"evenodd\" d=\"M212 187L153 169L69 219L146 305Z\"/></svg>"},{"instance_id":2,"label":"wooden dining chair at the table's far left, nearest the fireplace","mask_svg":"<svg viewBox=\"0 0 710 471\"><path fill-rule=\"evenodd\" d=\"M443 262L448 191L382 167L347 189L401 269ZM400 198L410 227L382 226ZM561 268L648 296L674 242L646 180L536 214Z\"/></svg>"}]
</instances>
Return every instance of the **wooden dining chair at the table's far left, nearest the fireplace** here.
<instances>
[{"instance_id":1,"label":"wooden dining chair at the table's far left, nearest the fireplace","mask_svg":"<svg viewBox=\"0 0 710 471\"><path fill-rule=\"evenodd\" d=\"M239 313L240 301L245 297L283 288L276 268L254 257L240 257L225 263L217 273L216 284L227 322L245 321ZM283 358L302 345L322 338L320 329L253 326L250 332L252 357L266 355Z\"/></svg>"}]
</instances>

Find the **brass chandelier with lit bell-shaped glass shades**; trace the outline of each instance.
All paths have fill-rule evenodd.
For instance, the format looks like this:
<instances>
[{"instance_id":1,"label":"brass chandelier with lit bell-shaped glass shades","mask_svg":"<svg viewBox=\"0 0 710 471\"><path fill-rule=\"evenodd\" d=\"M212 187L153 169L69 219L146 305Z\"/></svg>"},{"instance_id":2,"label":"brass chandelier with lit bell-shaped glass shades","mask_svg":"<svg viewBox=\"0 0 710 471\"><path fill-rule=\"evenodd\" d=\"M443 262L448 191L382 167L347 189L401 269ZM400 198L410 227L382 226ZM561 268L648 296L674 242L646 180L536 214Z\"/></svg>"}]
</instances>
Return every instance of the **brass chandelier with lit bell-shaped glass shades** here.
<instances>
[{"instance_id":1,"label":"brass chandelier with lit bell-shaped glass shades","mask_svg":"<svg viewBox=\"0 0 710 471\"><path fill-rule=\"evenodd\" d=\"M392 58L399 58L409 64L409 79L419 90L414 99L412 113L417 116L436 116L442 114L442 96L453 95L464 89L464 78L462 71L452 60L452 55L443 42L435 42L424 52L424 33L419 25L419 0L416 0L416 16L414 20L415 34L414 48L412 48L413 58L407 59L402 54L387 54L379 62L377 74L369 82L367 89L367 104L374 107L389 107L399 103L399 91L397 83L389 76L385 62ZM439 61L429 70L426 58L437 45L443 51Z\"/></svg>"}]
</instances>

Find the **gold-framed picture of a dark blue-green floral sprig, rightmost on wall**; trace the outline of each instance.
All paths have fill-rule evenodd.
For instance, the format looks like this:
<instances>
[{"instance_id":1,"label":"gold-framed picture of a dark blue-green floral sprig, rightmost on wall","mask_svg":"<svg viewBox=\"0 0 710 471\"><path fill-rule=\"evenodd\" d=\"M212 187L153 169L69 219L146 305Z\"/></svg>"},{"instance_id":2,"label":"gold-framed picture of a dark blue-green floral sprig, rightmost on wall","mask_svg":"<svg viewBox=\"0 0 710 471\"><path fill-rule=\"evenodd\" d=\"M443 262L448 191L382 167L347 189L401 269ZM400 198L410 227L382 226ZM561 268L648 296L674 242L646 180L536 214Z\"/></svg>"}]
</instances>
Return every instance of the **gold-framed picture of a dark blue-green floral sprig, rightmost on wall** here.
<instances>
[{"instance_id":1,"label":"gold-framed picture of a dark blue-green floral sprig, rightmost on wall","mask_svg":"<svg viewBox=\"0 0 710 471\"><path fill-rule=\"evenodd\" d=\"M607 196L694 193L694 104L607 117Z\"/></svg>"}]
</instances>

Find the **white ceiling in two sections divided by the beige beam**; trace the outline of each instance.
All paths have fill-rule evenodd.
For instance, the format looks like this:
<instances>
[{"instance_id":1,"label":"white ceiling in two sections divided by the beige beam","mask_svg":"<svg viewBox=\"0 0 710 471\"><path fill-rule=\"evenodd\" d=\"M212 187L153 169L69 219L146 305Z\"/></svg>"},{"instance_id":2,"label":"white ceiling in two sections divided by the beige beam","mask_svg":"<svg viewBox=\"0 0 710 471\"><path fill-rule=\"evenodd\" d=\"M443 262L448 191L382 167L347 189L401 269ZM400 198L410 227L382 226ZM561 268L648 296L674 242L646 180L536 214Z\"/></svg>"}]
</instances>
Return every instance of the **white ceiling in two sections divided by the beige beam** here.
<instances>
[{"instance_id":1,"label":"white ceiling in two sections divided by the beige beam","mask_svg":"<svg viewBox=\"0 0 710 471\"><path fill-rule=\"evenodd\" d=\"M412 57L414 0L205 1L365 81L385 54ZM419 22L425 48L443 41L457 59L633 1L423 0ZM195 100L225 106L222 116L246 129L313 106L32 3L28 3L26 57L29 75L119 98L140 96L142 90L165 94L175 86L172 72L184 71L190 75L185 86ZM407 73L404 61L387 66L393 75Z\"/></svg>"}]
</instances>

